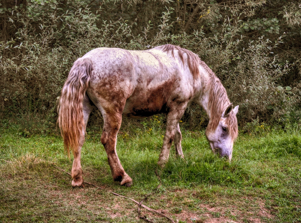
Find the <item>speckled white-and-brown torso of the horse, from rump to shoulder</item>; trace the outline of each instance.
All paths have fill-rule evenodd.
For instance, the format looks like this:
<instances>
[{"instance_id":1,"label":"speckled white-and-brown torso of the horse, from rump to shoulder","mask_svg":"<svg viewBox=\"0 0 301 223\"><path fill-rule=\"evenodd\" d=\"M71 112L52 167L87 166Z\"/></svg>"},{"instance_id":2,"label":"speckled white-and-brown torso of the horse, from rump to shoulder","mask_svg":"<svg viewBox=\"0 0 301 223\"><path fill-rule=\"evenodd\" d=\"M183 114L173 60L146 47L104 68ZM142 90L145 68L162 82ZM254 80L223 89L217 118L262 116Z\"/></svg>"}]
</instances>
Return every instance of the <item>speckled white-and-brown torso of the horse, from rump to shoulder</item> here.
<instances>
[{"instance_id":1,"label":"speckled white-and-brown torso of the horse, from rump to shoulder","mask_svg":"<svg viewBox=\"0 0 301 223\"><path fill-rule=\"evenodd\" d=\"M172 103L193 97L194 80L187 64L160 47L144 51L97 48L82 58L93 64L87 90L92 101L101 105L125 99L126 116L167 113Z\"/></svg>"}]
</instances>

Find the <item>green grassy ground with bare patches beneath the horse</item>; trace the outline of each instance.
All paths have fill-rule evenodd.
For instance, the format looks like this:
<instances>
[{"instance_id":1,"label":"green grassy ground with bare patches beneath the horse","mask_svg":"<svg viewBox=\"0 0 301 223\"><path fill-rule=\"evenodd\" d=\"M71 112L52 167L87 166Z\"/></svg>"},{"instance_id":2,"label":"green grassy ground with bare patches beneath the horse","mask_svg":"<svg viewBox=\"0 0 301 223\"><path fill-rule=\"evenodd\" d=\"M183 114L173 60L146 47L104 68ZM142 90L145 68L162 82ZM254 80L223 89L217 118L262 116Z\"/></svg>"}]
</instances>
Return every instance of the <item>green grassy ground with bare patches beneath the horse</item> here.
<instances>
[{"instance_id":1,"label":"green grassy ground with bare patches beneath the horse","mask_svg":"<svg viewBox=\"0 0 301 223\"><path fill-rule=\"evenodd\" d=\"M132 177L130 188L113 182L100 133L88 132L82 149L84 179L144 204L178 222L301 222L301 135L272 131L240 134L231 162L213 155L204 132L182 131L185 160L158 169L163 130L119 133L117 153ZM1 222L143 222L137 205L91 185L71 187L70 161L57 135L20 137L0 132ZM141 210L154 222L166 219Z\"/></svg>"}]
</instances>

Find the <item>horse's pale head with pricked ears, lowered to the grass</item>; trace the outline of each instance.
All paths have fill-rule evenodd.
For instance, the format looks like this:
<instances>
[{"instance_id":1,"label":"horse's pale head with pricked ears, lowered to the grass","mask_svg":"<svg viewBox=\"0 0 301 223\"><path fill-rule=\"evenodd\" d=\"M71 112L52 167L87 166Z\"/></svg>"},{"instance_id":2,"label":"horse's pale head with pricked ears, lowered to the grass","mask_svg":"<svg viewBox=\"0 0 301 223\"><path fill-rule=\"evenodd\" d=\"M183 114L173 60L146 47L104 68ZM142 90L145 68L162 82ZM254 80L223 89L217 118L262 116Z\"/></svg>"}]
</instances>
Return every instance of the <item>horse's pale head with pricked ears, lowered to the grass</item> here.
<instances>
[{"instance_id":1,"label":"horse's pale head with pricked ears, lowered to the grass","mask_svg":"<svg viewBox=\"0 0 301 223\"><path fill-rule=\"evenodd\" d=\"M237 138L238 105L233 108L232 103L222 112L219 120L213 118L209 120L206 129L206 137L209 141L213 153L218 153L221 157L232 158L233 143Z\"/></svg>"}]
</instances>

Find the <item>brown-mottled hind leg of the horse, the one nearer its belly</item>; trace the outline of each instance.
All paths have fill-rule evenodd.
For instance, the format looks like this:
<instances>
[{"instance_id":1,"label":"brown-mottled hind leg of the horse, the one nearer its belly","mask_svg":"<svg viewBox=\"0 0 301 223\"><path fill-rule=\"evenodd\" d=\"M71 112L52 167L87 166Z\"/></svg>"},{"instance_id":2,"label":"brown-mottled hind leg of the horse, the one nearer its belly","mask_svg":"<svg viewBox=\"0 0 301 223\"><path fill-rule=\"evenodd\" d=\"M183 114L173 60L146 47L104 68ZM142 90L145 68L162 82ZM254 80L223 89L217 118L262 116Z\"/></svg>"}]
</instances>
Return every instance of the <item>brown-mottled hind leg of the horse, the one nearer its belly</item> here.
<instances>
[{"instance_id":1,"label":"brown-mottled hind leg of the horse, the one nearer its belly","mask_svg":"<svg viewBox=\"0 0 301 223\"><path fill-rule=\"evenodd\" d=\"M120 185L130 187L132 179L126 174L126 171L124 171L116 152L117 133L121 125L122 114L106 113L103 114L103 117L104 128L101 134L101 143L104 145L104 149L107 152L113 179L114 181L120 181Z\"/></svg>"}]
</instances>

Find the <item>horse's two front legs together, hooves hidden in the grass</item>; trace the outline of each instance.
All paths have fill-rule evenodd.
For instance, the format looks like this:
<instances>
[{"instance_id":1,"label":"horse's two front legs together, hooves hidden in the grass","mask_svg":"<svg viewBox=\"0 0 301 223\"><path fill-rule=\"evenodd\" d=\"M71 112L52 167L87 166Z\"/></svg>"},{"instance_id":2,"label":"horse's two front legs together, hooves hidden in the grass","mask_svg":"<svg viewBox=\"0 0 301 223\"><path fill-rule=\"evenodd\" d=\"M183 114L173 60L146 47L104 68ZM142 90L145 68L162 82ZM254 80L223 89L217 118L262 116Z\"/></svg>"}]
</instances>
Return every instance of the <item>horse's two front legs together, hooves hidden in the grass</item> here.
<instances>
[{"instance_id":1,"label":"horse's two front legs together, hooves hidden in the grass","mask_svg":"<svg viewBox=\"0 0 301 223\"><path fill-rule=\"evenodd\" d=\"M177 149L177 153L182 156L182 147L181 147L181 139L182 134L180 132L180 127L178 127L178 121L182 118L184 111L186 109L186 105L176 106L174 109L169 111L166 118L166 132L163 138L163 146L161 148L161 153L159 156L158 165L163 167L169 158L169 151L172 145L173 140L175 140L175 145ZM179 133L180 132L180 133ZM181 155L182 153L182 155ZM184 157L184 156L183 156Z\"/></svg>"}]
</instances>

